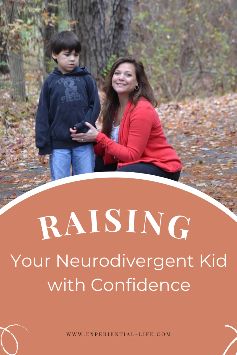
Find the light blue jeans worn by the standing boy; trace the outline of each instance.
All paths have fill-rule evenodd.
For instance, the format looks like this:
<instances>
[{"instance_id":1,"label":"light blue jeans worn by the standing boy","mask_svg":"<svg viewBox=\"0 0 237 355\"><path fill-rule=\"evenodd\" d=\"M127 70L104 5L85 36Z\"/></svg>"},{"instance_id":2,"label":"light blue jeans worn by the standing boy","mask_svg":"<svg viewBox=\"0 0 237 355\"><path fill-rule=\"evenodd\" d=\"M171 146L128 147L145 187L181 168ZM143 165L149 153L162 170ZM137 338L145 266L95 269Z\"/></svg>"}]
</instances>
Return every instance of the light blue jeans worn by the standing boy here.
<instances>
[{"instance_id":1,"label":"light blue jeans worn by the standing boy","mask_svg":"<svg viewBox=\"0 0 237 355\"><path fill-rule=\"evenodd\" d=\"M72 175L93 173L95 155L93 144L86 144L70 149L53 149L49 155L49 169L51 180L55 181Z\"/></svg>"}]
</instances>

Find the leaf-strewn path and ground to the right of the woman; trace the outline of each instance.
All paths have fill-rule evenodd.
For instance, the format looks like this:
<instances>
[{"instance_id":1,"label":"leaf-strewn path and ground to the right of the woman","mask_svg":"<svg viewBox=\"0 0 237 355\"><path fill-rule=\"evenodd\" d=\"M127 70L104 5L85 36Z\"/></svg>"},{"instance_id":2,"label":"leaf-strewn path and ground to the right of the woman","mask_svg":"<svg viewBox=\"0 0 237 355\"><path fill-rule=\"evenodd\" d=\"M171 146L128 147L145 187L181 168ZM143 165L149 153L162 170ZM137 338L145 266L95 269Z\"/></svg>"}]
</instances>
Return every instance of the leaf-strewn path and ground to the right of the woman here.
<instances>
[{"instance_id":1,"label":"leaf-strewn path and ground to the right of the woman","mask_svg":"<svg viewBox=\"0 0 237 355\"><path fill-rule=\"evenodd\" d=\"M179 181L237 214L237 94L164 105L160 118L182 160Z\"/></svg>"}]
</instances>

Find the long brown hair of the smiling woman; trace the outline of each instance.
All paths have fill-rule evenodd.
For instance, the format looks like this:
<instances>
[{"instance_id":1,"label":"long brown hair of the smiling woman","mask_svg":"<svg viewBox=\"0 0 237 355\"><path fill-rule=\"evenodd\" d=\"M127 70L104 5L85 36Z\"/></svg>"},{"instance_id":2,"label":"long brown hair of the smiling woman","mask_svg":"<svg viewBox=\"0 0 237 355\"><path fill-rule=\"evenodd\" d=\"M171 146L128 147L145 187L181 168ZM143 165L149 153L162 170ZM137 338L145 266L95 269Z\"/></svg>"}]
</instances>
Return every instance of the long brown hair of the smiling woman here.
<instances>
[{"instance_id":1,"label":"long brown hair of the smiling woman","mask_svg":"<svg viewBox=\"0 0 237 355\"><path fill-rule=\"evenodd\" d=\"M157 101L154 97L152 87L148 81L142 62L137 61L135 58L130 56L118 58L108 73L103 87L105 98L103 100L102 110L99 117L103 118L103 133L106 136L109 136L111 131L114 108L119 105L118 94L112 87L112 78L115 70L122 63L131 63L135 67L139 89L134 89L134 91L129 94L129 98L132 99L135 104L134 107L136 107L141 97L144 97L147 101L149 101L153 107L157 107Z\"/></svg>"}]
</instances>

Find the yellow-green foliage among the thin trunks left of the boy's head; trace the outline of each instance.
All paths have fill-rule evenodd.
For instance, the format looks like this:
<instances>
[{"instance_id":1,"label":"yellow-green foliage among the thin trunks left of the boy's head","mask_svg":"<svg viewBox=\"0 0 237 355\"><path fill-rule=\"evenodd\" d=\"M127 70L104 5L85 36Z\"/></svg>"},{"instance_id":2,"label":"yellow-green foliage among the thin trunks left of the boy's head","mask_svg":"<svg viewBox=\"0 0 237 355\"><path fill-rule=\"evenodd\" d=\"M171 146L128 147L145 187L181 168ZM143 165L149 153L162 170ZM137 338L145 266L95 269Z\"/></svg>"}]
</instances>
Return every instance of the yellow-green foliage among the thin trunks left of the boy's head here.
<instances>
[{"instance_id":1,"label":"yellow-green foliage among the thin trunks left of the boy's head","mask_svg":"<svg viewBox=\"0 0 237 355\"><path fill-rule=\"evenodd\" d=\"M12 6L13 2L7 2L8 6ZM44 2L42 0L28 0L16 2L17 11L20 18L8 25L6 19L6 12L0 0L1 22L0 33L3 36L3 42L0 47L4 47L5 39L8 36L7 48L12 51L20 53L23 50L23 59L25 69L33 72L35 68L41 71L36 74L36 81L38 75L44 75L44 38L43 32L45 26L52 26L57 28L58 23L61 22L61 31L68 28L67 6L66 0L59 0L60 11L56 16L53 12L47 12L47 6L56 8L57 5ZM3 10L3 11L2 11ZM13 48L11 43L18 43L18 47ZM0 63L0 67L7 65L5 62ZM52 69L54 62L52 61ZM50 68L51 69L51 68Z\"/></svg>"}]
</instances>

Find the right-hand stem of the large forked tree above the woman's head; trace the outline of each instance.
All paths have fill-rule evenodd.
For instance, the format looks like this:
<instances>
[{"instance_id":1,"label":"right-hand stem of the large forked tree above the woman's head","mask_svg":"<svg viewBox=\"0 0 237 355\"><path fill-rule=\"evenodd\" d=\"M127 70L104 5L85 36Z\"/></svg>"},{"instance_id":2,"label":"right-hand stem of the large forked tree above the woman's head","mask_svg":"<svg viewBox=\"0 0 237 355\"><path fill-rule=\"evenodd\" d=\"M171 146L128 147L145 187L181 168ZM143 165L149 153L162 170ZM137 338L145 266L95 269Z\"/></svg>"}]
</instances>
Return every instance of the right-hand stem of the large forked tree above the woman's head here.
<instances>
[{"instance_id":1,"label":"right-hand stem of the large forked tree above the woman's head","mask_svg":"<svg viewBox=\"0 0 237 355\"><path fill-rule=\"evenodd\" d=\"M112 54L126 55L129 42L133 0L113 0L107 33L107 58Z\"/></svg>"}]
</instances>

